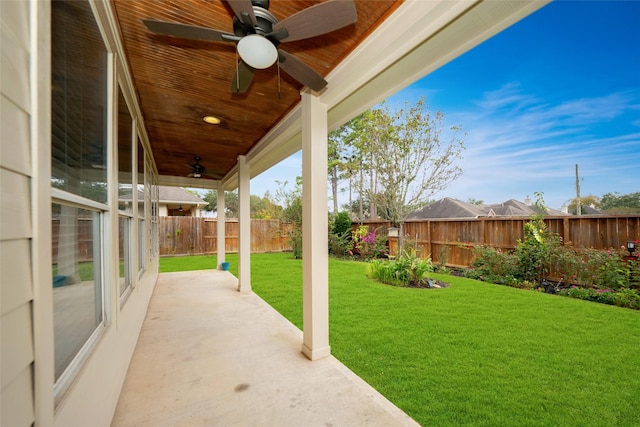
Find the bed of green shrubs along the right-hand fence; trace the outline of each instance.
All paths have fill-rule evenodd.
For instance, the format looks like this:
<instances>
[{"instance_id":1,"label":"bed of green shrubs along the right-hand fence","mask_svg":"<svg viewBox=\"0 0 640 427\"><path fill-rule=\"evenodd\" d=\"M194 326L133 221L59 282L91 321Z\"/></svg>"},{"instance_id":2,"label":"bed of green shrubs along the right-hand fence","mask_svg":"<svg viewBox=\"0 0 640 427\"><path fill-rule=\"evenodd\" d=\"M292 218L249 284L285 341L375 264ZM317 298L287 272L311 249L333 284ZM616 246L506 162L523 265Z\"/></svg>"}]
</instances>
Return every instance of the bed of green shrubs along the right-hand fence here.
<instances>
[{"instance_id":1,"label":"bed of green shrubs along the right-hand fence","mask_svg":"<svg viewBox=\"0 0 640 427\"><path fill-rule=\"evenodd\" d=\"M467 277L640 309L640 258L625 257L626 247L574 248L549 232L542 215L525 224L524 239L514 251L484 246L472 250Z\"/></svg>"}]
</instances>

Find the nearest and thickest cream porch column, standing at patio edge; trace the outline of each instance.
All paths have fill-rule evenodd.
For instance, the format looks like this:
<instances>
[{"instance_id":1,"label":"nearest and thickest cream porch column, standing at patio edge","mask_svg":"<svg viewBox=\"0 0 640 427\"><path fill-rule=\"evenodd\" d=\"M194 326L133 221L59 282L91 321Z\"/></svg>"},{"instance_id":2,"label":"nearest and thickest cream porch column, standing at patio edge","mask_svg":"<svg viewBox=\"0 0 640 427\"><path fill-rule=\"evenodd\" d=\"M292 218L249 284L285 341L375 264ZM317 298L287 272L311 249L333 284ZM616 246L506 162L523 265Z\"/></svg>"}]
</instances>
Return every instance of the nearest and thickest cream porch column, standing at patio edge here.
<instances>
[{"instance_id":1,"label":"nearest and thickest cream porch column, standing at patio edge","mask_svg":"<svg viewBox=\"0 0 640 427\"><path fill-rule=\"evenodd\" d=\"M302 352L311 360L329 347L327 106L302 94Z\"/></svg>"}]
</instances>

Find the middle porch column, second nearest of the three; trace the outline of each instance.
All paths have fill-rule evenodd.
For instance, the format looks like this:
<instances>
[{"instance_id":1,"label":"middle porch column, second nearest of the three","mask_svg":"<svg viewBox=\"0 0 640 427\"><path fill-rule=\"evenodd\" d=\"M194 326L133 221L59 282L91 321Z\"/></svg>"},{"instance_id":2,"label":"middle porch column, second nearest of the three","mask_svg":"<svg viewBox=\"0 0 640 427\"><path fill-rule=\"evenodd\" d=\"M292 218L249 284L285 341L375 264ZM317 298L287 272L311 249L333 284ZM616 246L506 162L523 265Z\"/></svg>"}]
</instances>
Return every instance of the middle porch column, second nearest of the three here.
<instances>
[{"instance_id":1,"label":"middle porch column, second nearest of the three","mask_svg":"<svg viewBox=\"0 0 640 427\"><path fill-rule=\"evenodd\" d=\"M249 165L238 156L238 291L251 291L251 215L249 210Z\"/></svg>"}]
</instances>

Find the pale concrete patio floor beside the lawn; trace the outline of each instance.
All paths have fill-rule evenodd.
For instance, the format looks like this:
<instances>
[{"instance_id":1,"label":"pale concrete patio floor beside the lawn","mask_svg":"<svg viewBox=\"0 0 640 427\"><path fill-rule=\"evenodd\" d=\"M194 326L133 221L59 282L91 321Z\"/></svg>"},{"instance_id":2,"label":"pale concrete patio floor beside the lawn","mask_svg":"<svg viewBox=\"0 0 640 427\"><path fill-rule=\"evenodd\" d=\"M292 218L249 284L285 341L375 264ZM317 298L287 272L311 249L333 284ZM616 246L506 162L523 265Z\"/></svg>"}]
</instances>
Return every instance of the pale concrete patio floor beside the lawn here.
<instances>
[{"instance_id":1,"label":"pale concrete patio floor beside the lawn","mask_svg":"<svg viewBox=\"0 0 640 427\"><path fill-rule=\"evenodd\" d=\"M417 426L228 272L161 274L112 426Z\"/></svg>"}]
</instances>

